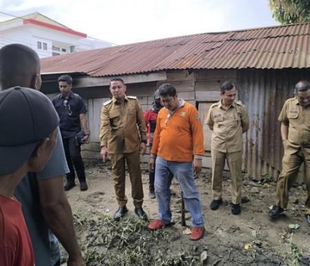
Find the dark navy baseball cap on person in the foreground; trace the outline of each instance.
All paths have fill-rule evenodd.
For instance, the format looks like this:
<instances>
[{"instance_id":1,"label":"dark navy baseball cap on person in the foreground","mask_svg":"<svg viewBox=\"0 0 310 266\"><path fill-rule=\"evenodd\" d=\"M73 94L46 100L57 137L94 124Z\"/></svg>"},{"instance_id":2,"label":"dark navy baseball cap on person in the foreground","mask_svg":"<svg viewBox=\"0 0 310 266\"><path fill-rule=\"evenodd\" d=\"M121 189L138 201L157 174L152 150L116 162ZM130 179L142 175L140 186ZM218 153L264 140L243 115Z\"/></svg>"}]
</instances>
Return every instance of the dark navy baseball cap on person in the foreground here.
<instances>
[{"instance_id":1,"label":"dark navy baseball cap on person in the foreground","mask_svg":"<svg viewBox=\"0 0 310 266\"><path fill-rule=\"evenodd\" d=\"M11 174L59 125L50 99L30 88L0 92L0 176Z\"/></svg>"}]
</instances>

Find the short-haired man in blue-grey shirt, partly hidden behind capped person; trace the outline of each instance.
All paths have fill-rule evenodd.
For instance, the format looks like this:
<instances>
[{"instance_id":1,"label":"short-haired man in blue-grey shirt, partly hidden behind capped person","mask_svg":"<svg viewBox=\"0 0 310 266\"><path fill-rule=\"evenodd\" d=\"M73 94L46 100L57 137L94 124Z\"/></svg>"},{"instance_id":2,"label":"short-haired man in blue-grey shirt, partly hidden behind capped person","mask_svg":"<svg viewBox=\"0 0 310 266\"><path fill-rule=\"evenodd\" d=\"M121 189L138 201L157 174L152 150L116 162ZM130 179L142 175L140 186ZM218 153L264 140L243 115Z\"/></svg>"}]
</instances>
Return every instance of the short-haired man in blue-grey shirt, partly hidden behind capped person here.
<instances>
[{"instance_id":1,"label":"short-haired man in blue-grey shirt, partly hidden behind capped person","mask_svg":"<svg viewBox=\"0 0 310 266\"><path fill-rule=\"evenodd\" d=\"M31 48L14 43L0 49L0 90L17 85L36 90L41 88L40 60ZM19 131L23 129L19 128ZM50 230L68 252L68 265L85 265L76 241L71 207L63 190L63 174L67 172L58 132L48 164L41 172L28 173L15 190L15 196L22 203L36 265L39 266L60 265L59 243L54 237L50 238Z\"/></svg>"}]
</instances>

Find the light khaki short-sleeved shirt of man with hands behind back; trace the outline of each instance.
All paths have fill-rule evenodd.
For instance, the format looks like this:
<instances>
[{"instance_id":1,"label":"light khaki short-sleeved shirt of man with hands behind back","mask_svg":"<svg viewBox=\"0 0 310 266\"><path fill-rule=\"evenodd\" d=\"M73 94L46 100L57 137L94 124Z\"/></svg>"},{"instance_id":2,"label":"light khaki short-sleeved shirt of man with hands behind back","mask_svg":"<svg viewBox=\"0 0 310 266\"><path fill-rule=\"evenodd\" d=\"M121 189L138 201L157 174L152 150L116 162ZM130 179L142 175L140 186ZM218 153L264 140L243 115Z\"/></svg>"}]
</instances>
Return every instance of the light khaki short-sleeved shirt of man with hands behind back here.
<instances>
[{"instance_id":1,"label":"light khaki short-sleeved shirt of man with hands behind back","mask_svg":"<svg viewBox=\"0 0 310 266\"><path fill-rule=\"evenodd\" d=\"M222 101L214 103L207 115L207 125L213 127L211 149L219 152L242 150L242 127L249 125L245 105L234 102L226 110Z\"/></svg>"}]
</instances>

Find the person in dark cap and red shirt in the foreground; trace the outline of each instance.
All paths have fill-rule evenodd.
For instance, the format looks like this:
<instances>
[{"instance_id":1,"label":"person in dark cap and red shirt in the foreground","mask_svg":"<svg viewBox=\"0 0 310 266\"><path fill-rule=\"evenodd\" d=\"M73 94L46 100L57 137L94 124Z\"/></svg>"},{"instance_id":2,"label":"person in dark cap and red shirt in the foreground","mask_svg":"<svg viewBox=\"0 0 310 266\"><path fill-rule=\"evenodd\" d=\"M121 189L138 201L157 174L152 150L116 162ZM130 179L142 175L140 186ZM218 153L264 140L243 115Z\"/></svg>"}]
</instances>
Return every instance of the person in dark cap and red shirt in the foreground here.
<instances>
[{"instance_id":1,"label":"person in dark cap and red shirt in the foreground","mask_svg":"<svg viewBox=\"0 0 310 266\"><path fill-rule=\"evenodd\" d=\"M34 265L34 254L14 190L27 172L41 171L54 149L59 117L41 92L0 92L0 265ZM22 129L22 130L21 130Z\"/></svg>"}]
</instances>

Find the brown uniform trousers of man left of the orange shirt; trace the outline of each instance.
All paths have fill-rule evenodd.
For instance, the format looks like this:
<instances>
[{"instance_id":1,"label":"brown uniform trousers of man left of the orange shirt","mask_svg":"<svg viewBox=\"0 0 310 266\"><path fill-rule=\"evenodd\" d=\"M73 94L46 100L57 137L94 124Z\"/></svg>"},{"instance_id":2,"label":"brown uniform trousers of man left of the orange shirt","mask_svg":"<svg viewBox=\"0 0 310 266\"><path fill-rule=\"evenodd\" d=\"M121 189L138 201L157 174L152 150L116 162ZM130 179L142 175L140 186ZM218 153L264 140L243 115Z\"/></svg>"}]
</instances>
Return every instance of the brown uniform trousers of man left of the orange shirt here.
<instances>
[{"instance_id":1,"label":"brown uniform trousers of man left of the orange shirt","mask_svg":"<svg viewBox=\"0 0 310 266\"><path fill-rule=\"evenodd\" d=\"M132 198L135 207L142 207L143 187L140 169L140 151L128 154L110 154L112 163L112 174L114 181L114 190L119 206L125 206L127 197L125 195L125 161L127 162L128 172L130 174L130 183L132 183Z\"/></svg>"}]
</instances>

